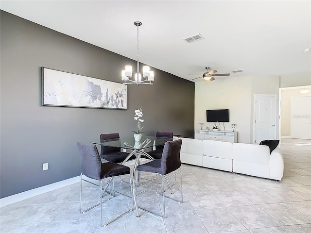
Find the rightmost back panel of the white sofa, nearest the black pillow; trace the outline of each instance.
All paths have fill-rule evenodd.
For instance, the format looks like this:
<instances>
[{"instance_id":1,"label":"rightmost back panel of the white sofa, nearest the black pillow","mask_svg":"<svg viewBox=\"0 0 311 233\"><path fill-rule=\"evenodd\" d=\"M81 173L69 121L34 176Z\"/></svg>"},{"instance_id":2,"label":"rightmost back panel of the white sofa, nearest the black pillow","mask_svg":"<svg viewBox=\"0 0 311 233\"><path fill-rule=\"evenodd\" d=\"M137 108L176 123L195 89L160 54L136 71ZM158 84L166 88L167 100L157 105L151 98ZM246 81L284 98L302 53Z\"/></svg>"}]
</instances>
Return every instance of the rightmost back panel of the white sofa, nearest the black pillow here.
<instances>
[{"instance_id":1,"label":"rightmost back panel of the white sofa, nearest the black pillow","mask_svg":"<svg viewBox=\"0 0 311 233\"><path fill-rule=\"evenodd\" d=\"M269 165L269 147L257 144L233 143L233 163L242 161L245 163ZM234 167L234 166L233 166Z\"/></svg>"}]
</instances>

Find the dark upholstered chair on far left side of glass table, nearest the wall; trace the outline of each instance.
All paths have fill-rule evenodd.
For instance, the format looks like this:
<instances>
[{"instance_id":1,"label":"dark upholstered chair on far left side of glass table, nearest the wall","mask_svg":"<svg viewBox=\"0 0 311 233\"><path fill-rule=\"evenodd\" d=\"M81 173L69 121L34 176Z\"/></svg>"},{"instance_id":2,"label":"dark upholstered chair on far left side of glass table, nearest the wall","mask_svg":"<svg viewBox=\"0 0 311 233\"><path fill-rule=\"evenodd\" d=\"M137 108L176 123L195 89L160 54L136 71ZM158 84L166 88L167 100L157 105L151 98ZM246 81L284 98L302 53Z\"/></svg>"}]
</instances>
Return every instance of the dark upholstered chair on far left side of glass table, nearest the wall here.
<instances>
[{"instance_id":1,"label":"dark upholstered chair on far left side of glass table, nearest the wall","mask_svg":"<svg viewBox=\"0 0 311 233\"><path fill-rule=\"evenodd\" d=\"M120 138L119 133L102 133L100 135L101 141L119 138ZM101 157L111 163L121 164L128 155L129 153L121 152L120 148L101 146ZM135 159L135 155L132 155L129 160L133 159Z\"/></svg>"}]
</instances>

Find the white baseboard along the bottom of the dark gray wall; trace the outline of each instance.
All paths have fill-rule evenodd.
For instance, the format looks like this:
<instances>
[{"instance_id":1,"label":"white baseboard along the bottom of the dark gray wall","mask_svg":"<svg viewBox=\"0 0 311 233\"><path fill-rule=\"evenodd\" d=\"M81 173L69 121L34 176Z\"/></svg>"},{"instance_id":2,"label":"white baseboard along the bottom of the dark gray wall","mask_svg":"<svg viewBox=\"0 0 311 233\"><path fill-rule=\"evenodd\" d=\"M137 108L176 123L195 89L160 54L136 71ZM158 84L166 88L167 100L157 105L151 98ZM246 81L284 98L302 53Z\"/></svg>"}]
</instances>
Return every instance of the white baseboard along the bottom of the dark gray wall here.
<instances>
[{"instance_id":1,"label":"white baseboard along the bottom of the dark gray wall","mask_svg":"<svg viewBox=\"0 0 311 233\"><path fill-rule=\"evenodd\" d=\"M143 159L142 161L145 161L145 160L146 159ZM126 166L134 165L134 160L126 162L125 165ZM55 190L57 188L62 188L62 187L65 187L67 185L70 185L73 183L78 183L78 182L80 182L80 176L69 178L67 180L59 181L56 183L51 183L51 184L48 184L48 185L45 185L42 187L38 187L38 188L34 188L31 190L22 192L22 193L17 193L17 194L14 194L14 195L11 195L11 196L8 196L5 198L1 198L0 199L0 207L6 206L9 204L13 204L15 202L25 200L28 198L32 198L32 197L35 197L37 195L40 195L40 194L43 194L46 192L50 192L50 191Z\"/></svg>"}]
</instances>

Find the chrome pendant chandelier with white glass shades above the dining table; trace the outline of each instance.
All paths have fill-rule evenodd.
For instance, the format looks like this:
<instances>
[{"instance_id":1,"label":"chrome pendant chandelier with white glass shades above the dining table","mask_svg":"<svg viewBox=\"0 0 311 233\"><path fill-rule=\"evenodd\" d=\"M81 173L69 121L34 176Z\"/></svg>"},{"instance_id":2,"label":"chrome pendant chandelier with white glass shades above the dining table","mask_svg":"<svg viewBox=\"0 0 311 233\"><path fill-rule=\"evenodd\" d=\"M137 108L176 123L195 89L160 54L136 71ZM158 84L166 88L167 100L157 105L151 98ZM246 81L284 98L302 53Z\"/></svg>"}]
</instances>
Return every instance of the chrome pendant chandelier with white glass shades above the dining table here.
<instances>
[{"instance_id":1,"label":"chrome pendant chandelier with white glass shades above the dining table","mask_svg":"<svg viewBox=\"0 0 311 233\"><path fill-rule=\"evenodd\" d=\"M150 67L142 67L142 75L139 73L139 47L138 47L138 27L141 26L141 22L135 21L134 25L137 26L137 73L135 74L135 80L131 80L132 77L132 66L125 66L125 70L122 70L121 79L124 84L153 84L155 80L154 71L150 70ZM141 80L143 78L143 80Z\"/></svg>"}]
</instances>

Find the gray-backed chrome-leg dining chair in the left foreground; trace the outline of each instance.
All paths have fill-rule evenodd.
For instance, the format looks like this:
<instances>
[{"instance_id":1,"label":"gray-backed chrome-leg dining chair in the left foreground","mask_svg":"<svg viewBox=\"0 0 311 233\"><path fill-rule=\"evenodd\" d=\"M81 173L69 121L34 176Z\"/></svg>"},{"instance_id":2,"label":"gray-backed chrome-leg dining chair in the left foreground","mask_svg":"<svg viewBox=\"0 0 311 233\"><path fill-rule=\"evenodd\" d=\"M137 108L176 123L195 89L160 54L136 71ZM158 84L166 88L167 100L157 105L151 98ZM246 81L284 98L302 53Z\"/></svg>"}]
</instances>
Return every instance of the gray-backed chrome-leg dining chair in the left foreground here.
<instances>
[{"instance_id":1,"label":"gray-backed chrome-leg dining chair in the left foreground","mask_svg":"<svg viewBox=\"0 0 311 233\"><path fill-rule=\"evenodd\" d=\"M103 200L104 193L107 189L107 187L110 185L110 180L113 177L121 176L130 174L130 168L128 166L115 164L115 163L102 163L101 158L99 156L97 147L95 145L84 145L80 142L77 143L77 147L79 150L80 158L81 158L81 183L80 183L80 213L86 213L87 211L93 209L94 207L100 205L100 224L101 226L106 226L107 224L111 223L112 221L116 220L117 218L125 215L129 211L132 211L132 209L124 212L120 216L115 217L113 220L102 224L102 203L104 203L107 200L110 200L112 198L111 193L109 198L106 200ZM93 180L99 181L99 184L90 182L89 180L83 179L83 175L85 175L88 178L91 178ZM107 180L106 185L103 187L103 181ZM130 178L131 179L131 178ZM86 181L88 183L92 183L99 187L99 195L100 195L100 202L84 211L81 210L81 202L82 202L82 182ZM109 186L110 189L110 186Z\"/></svg>"}]
</instances>

